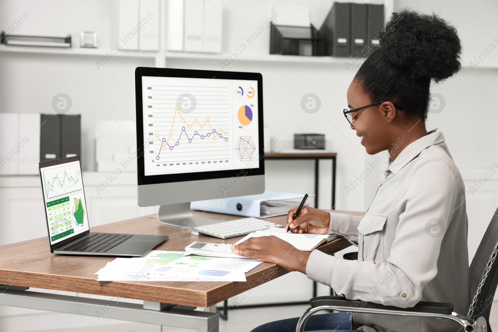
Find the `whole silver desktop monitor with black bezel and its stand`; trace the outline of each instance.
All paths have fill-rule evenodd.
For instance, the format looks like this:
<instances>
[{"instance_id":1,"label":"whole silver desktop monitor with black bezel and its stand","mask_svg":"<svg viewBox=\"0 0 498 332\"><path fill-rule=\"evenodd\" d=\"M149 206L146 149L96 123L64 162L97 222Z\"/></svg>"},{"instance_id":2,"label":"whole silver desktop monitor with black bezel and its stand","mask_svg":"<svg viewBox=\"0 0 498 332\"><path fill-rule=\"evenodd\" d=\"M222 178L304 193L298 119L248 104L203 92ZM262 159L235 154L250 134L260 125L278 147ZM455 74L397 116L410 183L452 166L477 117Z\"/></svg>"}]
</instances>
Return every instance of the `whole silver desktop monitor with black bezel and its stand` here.
<instances>
[{"instance_id":1,"label":"whole silver desktop monitor with black bezel and its stand","mask_svg":"<svg viewBox=\"0 0 498 332\"><path fill-rule=\"evenodd\" d=\"M190 202L263 193L262 93L258 73L136 68L138 205L199 226Z\"/></svg>"}]
</instances>

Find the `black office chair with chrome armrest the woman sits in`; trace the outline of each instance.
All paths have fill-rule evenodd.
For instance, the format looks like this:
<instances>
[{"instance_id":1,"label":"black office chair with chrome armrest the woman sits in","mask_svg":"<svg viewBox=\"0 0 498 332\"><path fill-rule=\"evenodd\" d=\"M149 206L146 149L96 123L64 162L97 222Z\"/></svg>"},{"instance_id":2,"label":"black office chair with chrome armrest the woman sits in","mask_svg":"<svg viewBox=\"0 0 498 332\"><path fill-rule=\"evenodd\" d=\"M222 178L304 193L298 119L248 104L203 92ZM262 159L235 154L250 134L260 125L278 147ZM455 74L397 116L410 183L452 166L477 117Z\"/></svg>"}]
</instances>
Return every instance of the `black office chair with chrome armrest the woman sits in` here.
<instances>
[{"instance_id":1,"label":"black office chair with chrome armrest the woman sits in","mask_svg":"<svg viewBox=\"0 0 498 332\"><path fill-rule=\"evenodd\" d=\"M498 284L498 209L484 234L469 269L471 304L467 316L453 312L453 304L420 301L412 308L348 300L343 296L319 296L310 300L311 307L297 323L296 332L303 332L308 318L321 310L382 315L435 317L460 324L466 332L492 332L489 317Z\"/></svg>"}]
</instances>

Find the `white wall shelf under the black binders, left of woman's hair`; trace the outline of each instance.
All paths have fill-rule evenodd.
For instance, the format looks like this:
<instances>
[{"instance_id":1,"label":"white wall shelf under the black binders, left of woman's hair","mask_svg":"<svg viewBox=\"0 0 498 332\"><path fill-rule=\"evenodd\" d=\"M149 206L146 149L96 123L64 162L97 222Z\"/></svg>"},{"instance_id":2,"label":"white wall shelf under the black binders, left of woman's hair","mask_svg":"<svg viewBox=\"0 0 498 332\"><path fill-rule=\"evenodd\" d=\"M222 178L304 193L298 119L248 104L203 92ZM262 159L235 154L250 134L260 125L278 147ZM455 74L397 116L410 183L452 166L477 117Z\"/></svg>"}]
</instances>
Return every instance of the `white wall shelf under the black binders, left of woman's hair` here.
<instances>
[{"instance_id":1,"label":"white wall shelf under the black binders, left of woman's hair","mask_svg":"<svg viewBox=\"0 0 498 332\"><path fill-rule=\"evenodd\" d=\"M165 56L166 59L200 59L200 60L216 60L216 61L226 61L225 57L230 54L211 54L211 53L194 53L194 52L171 52L167 51ZM235 62L238 61L259 61L259 62L292 62L292 63L325 63L325 64L338 64L344 65L345 62L351 63L351 58L346 57L330 57L330 56L300 56L300 55L280 55L280 54L265 54L263 55L253 55L248 54L239 56L239 58L233 57ZM355 60L356 61L356 60ZM358 62L363 63L365 60L359 60Z\"/></svg>"}]
</instances>

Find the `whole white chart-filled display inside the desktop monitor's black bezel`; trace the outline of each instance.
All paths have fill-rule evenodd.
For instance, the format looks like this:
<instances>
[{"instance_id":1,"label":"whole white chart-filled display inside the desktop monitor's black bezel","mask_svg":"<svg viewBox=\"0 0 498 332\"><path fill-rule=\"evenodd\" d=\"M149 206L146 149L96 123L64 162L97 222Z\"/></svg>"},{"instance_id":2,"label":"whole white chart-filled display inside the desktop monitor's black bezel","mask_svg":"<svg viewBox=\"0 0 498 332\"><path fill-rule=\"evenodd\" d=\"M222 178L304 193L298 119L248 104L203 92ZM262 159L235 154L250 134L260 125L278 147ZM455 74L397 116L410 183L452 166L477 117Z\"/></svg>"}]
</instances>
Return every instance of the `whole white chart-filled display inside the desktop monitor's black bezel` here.
<instances>
[{"instance_id":1,"label":"whole white chart-filled display inside the desktop monitor's black bezel","mask_svg":"<svg viewBox=\"0 0 498 332\"><path fill-rule=\"evenodd\" d=\"M142 76L144 176L259 168L257 80Z\"/></svg>"}]
</instances>

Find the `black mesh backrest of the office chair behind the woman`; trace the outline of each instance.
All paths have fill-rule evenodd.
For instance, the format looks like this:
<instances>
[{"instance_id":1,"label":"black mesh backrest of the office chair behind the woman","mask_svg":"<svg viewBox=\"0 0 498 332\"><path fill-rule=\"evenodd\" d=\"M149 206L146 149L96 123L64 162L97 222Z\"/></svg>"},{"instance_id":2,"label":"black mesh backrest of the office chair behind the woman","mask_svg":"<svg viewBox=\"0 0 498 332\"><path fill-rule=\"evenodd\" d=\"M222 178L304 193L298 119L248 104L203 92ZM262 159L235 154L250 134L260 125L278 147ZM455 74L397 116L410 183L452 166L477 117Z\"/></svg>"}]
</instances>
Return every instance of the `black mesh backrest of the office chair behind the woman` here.
<instances>
[{"instance_id":1,"label":"black mesh backrest of the office chair behind the woman","mask_svg":"<svg viewBox=\"0 0 498 332\"><path fill-rule=\"evenodd\" d=\"M489 322L498 283L498 209L479 244L469 270L471 304L467 318L485 316ZM489 323L488 323L489 325ZM491 330L490 330L491 331Z\"/></svg>"}]
</instances>

